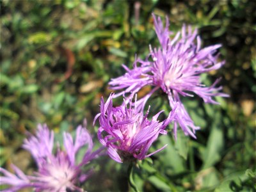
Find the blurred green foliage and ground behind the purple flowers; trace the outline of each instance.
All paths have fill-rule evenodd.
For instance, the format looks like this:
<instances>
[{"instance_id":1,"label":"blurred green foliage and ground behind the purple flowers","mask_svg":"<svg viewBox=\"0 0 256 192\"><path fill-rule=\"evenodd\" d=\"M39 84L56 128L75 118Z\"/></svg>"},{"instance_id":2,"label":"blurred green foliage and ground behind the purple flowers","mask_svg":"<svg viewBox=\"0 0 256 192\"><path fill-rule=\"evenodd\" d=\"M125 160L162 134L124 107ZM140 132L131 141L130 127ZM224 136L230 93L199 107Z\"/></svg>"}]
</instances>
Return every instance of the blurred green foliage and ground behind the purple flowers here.
<instances>
[{"instance_id":1,"label":"blurred green foliage and ground behind the purple flowers","mask_svg":"<svg viewBox=\"0 0 256 192\"><path fill-rule=\"evenodd\" d=\"M145 59L148 44L159 45L155 13L163 19L168 15L172 31L191 24L199 29L204 46L223 45L225 66L202 79L211 84L222 77L223 92L230 98L217 98L220 106L198 97L184 99L202 128L197 140L181 132L177 142L171 134L161 136L150 150L166 143L168 148L152 162L140 162L131 175L127 165L101 157L84 189L132 191L130 180L140 191L256 190L255 1L2 0L0 6L1 166L10 170L14 163L26 173L35 170L20 145L38 123L46 123L61 140L61 132L74 131L86 118L100 146L97 126L92 126L100 97L111 93L112 77L124 74L122 63L131 67L135 54ZM152 114L170 110L164 99L151 101Z\"/></svg>"}]
</instances>

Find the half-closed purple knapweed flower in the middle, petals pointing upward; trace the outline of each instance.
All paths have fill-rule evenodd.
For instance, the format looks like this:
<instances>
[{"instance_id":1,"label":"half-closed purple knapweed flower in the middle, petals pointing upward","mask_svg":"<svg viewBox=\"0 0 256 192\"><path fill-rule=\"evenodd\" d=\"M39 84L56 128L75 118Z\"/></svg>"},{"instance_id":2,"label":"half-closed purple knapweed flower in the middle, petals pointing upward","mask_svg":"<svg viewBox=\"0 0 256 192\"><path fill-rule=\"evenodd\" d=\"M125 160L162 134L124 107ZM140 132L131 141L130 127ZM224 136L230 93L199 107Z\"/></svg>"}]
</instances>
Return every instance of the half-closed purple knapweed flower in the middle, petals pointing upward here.
<instances>
[{"instance_id":1,"label":"half-closed purple knapweed flower in the middle, petals pointing upward","mask_svg":"<svg viewBox=\"0 0 256 192\"><path fill-rule=\"evenodd\" d=\"M168 115L166 120L159 122L157 117L163 111L160 111L148 120L148 111L143 115L143 111L138 111L135 106L127 108L125 102L116 108L113 108L113 95L110 95L106 103L104 99L100 100L100 113L95 116L99 118L98 138L104 147L108 148L108 155L115 161L132 161L134 159L144 159L152 156L156 152L163 150L164 147L147 154L148 148L157 139L159 134L166 134L164 130L166 125L175 118L175 109ZM122 157L122 159L121 159Z\"/></svg>"}]
</instances>

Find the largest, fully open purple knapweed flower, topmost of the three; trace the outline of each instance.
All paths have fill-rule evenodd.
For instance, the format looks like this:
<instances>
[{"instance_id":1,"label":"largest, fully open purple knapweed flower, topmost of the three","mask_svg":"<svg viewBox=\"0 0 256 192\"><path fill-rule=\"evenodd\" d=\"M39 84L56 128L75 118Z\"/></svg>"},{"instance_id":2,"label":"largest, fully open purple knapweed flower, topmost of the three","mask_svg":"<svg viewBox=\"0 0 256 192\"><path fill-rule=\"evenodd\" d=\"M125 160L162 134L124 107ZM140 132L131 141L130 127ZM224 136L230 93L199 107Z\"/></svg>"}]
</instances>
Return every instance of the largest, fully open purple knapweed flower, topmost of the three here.
<instances>
[{"instance_id":1,"label":"largest, fully open purple knapweed flower, topmost of the three","mask_svg":"<svg viewBox=\"0 0 256 192\"><path fill-rule=\"evenodd\" d=\"M214 96L228 97L227 94L219 92L222 89L221 86L216 87L220 79L217 79L209 87L200 81L200 74L217 70L225 63L224 61L218 62L218 54L216 54L221 45L212 45L202 49L197 30L193 31L191 26L187 28L185 25L174 38L170 38L172 32L168 29L168 19L166 19L166 26L164 27L160 17L156 18L155 15L153 17L160 47L152 49L150 46L147 60L136 59L132 69L123 65L127 72L124 76L111 79L110 88L122 90L116 94L116 97L128 94L128 96L126 95L127 98L131 99L144 86L153 86L154 88L150 93L140 101L138 100L141 108L144 108L152 93L159 89L163 90L168 95L171 108L176 102L180 102L176 121L186 135L195 138L195 131L200 127L194 125L180 101L180 95L193 97L193 93L195 93L204 102L212 104L218 104L212 99ZM148 60L149 58L150 60ZM176 131L177 124L175 123L173 128L175 137Z\"/></svg>"}]
</instances>

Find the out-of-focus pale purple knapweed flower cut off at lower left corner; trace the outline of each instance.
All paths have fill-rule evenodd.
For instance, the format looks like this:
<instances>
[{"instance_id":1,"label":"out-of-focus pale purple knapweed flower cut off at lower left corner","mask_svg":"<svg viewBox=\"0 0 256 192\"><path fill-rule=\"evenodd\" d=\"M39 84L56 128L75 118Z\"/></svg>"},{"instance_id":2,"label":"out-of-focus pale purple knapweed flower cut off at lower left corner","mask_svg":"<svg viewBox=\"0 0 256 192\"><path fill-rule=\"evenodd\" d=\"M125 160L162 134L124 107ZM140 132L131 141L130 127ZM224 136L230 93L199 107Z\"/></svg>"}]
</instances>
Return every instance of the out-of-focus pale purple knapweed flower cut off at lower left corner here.
<instances>
[{"instance_id":1,"label":"out-of-focus pale purple knapweed flower cut off at lower left corner","mask_svg":"<svg viewBox=\"0 0 256 192\"><path fill-rule=\"evenodd\" d=\"M38 170L34 175L25 175L17 166L12 164L15 174L0 168L0 184L10 188L4 191L18 191L24 188L33 188L35 191L83 191L77 184L83 183L92 170L83 173L81 167L95 158L99 152L92 152L92 138L86 128L81 125L76 129L76 140L67 132L63 133L65 150L56 146L54 150L54 132L49 131L47 125L38 125L36 136L24 140L23 147L34 157ZM76 162L76 154L84 146L87 151L81 162Z\"/></svg>"}]
</instances>

